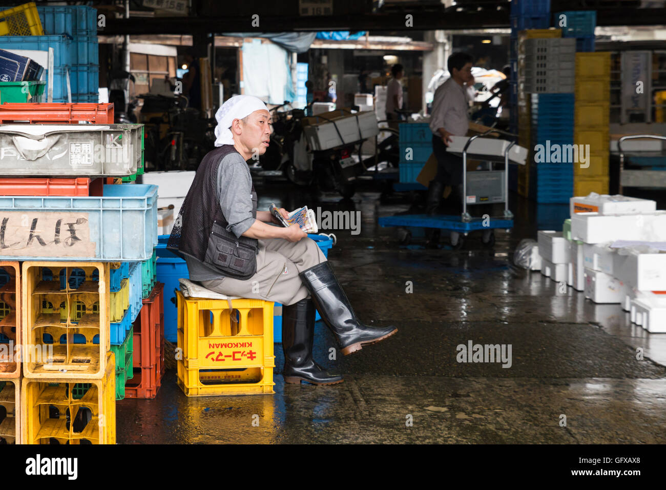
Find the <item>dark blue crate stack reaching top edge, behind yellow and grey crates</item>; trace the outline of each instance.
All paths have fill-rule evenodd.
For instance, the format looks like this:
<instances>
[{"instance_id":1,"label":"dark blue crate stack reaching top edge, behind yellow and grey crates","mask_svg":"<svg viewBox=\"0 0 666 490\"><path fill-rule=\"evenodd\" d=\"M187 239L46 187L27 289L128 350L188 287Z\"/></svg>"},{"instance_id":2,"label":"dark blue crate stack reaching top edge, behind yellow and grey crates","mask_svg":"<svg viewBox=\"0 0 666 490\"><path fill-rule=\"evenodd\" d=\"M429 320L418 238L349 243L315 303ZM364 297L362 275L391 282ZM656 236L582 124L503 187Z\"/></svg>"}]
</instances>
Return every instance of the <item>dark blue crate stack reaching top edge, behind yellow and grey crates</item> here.
<instances>
[{"instance_id":1,"label":"dark blue crate stack reaching top edge, behind yellow and grey crates","mask_svg":"<svg viewBox=\"0 0 666 490\"><path fill-rule=\"evenodd\" d=\"M550 0L511 1L511 39L509 39L509 64L511 65L509 104L509 131L518 132L518 33L524 29L547 29L550 27ZM510 187L515 187L509 182Z\"/></svg>"}]
</instances>

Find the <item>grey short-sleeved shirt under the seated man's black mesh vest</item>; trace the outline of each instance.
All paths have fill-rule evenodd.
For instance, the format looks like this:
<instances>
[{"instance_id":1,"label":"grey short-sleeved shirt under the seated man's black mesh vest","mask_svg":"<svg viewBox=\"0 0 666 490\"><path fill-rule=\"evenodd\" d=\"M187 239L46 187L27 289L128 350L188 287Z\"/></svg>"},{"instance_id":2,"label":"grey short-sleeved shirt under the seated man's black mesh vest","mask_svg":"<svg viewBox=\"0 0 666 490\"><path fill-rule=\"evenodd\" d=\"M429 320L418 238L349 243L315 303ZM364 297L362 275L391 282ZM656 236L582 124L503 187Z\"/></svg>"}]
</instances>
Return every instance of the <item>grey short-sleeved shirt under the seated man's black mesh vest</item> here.
<instances>
[{"instance_id":1,"label":"grey short-sleeved shirt under the seated man's black mesh vest","mask_svg":"<svg viewBox=\"0 0 666 490\"><path fill-rule=\"evenodd\" d=\"M252 175L243 158L234 151L220 161L217 167L216 194L222 214L228 221L226 229L240 237L254 223L252 217ZM211 281L224 275L203 262L185 256L192 281Z\"/></svg>"}]
</instances>

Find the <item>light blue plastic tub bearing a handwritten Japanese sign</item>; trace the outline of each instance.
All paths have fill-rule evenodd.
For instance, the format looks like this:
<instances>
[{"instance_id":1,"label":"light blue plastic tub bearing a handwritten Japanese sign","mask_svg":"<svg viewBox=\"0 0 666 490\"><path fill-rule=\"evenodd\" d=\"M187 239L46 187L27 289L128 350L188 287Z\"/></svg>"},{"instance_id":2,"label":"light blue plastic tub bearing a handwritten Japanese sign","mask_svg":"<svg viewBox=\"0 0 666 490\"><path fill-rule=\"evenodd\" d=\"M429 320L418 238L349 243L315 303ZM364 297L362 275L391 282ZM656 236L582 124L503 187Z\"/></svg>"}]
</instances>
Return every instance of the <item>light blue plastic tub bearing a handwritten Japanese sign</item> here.
<instances>
[{"instance_id":1,"label":"light blue plastic tub bearing a handwritten Japanese sign","mask_svg":"<svg viewBox=\"0 0 666 490\"><path fill-rule=\"evenodd\" d=\"M94 252L92 249L88 252L79 248L81 255L66 255L72 250L65 249L70 246L65 240L69 237L67 227L61 224L60 243L54 245L55 225L52 225L53 229L43 230L45 245L34 255L23 255L28 254L21 248L25 243L17 241L15 251L11 247L6 248L6 255L0 257L3 260L19 261L113 262L142 261L153 257L153 247L157 243L157 185L105 185L103 193L103 197L0 197L0 212L9 217L12 224L13 221L20 224L25 215L28 219L38 220L61 217L67 221L72 217L76 217L77 221L86 219L84 223L73 223L72 226L75 230L86 227L89 241L94 244ZM39 252L49 255L38 255Z\"/></svg>"}]
</instances>

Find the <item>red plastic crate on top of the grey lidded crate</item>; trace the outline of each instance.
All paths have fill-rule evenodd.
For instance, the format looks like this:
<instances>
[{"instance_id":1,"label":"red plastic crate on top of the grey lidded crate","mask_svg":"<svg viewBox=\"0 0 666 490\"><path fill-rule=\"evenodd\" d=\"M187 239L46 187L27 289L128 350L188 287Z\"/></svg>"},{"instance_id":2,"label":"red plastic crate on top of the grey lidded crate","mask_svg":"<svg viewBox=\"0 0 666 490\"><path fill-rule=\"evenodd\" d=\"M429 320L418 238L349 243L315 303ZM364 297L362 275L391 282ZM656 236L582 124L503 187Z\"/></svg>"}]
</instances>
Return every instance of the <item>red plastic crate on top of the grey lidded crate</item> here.
<instances>
[{"instance_id":1,"label":"red plastic crate on top of the grey lidded crate","mask_svg":"<svg viewBox=\"0 0 666 490\"><path fill-rule=\"evenodd\" d=\"M4 103L0 123L113 124L113 103Z\"/></svg>"}]
</instances>

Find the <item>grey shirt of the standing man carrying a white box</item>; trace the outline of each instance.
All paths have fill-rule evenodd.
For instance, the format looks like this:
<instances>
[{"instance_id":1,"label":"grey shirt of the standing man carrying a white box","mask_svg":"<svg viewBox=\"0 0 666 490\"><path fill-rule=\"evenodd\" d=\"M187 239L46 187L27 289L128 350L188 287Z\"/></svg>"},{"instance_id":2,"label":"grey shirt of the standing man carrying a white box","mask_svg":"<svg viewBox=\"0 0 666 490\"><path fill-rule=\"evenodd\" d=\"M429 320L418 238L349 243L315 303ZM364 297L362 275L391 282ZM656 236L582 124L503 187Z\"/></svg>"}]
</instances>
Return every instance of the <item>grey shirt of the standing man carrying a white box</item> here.
<instances>
[{"instance_id":1,"label":"grey shirt of the standing man carrying a white box","mask_svg":"<svg viewBox=\"0 0 666 490\"><path fill-rule=\"evenodd\" d=\"M469 95L452 78L437 87L432 99L430 130L440 136L438 129L443 127L454 136L465 136L470 128Z\"/></svg>"}]
</instances>

